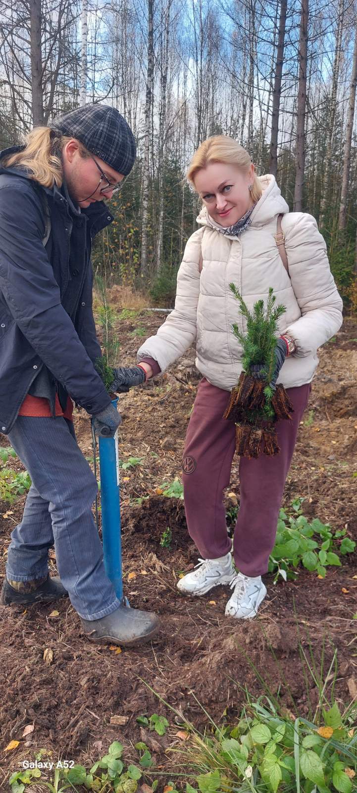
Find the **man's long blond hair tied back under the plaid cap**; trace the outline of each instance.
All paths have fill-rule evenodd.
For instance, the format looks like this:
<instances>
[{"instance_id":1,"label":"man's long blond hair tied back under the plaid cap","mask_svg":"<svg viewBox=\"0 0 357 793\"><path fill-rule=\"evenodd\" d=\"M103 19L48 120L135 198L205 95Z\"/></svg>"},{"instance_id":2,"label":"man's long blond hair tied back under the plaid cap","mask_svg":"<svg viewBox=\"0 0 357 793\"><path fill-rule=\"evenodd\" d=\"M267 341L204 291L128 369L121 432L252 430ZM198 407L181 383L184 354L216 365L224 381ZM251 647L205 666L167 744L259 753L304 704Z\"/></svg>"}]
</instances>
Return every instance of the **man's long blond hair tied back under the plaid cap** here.
<instances>
[{"instance_id":1,"label":"man's long blond hair tied back under the plaid cap","mask_svg":"<svg viewBox=\"0 0 357 793\"><path fill-rule=\"evenodd\" d=\"M25 167L28 176L44 187L61 187L63 182L62 150L67 141L66 135L59 135L48 127L35 127L23 140L24 148L2 160L2 165ZM88 149L78 140L79 154L89 157Z\"/></svg>"}]
</instances>

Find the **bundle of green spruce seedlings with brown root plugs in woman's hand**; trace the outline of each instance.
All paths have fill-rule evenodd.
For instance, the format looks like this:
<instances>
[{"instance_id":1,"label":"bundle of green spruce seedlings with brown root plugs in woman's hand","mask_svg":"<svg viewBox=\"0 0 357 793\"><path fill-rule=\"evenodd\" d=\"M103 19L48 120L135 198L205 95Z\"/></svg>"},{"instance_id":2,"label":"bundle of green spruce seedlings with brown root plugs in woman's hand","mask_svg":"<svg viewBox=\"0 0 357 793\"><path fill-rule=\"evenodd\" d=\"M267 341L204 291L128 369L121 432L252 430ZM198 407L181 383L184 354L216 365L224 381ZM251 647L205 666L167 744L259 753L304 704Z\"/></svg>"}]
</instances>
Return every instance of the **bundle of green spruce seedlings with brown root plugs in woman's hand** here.
<instances>
[{"instance_id":1,"label":"bundle of green spruce seedlings with brown root plugs in woman's hand","mask_svg":"<svg viewBox=\"0 0 357 793\"><path fill-rule=\"evenodd\" d=\"M230 393L223 418L236 424L236 449L241 457L259 457L262 450L264 454L279 454L275 424L280 419L291 419L293 412L283 385L271 385L276 366L278 320L286 308L282 304L275 305L272 287L266 307L264 301L259 300L253 305L253 312L249 311L234 284L230 284L230 289L237 297L247 330L244 333L237 324L233 325L234 335L243 348L243 371Z\"/></svg>"}]
</instances>

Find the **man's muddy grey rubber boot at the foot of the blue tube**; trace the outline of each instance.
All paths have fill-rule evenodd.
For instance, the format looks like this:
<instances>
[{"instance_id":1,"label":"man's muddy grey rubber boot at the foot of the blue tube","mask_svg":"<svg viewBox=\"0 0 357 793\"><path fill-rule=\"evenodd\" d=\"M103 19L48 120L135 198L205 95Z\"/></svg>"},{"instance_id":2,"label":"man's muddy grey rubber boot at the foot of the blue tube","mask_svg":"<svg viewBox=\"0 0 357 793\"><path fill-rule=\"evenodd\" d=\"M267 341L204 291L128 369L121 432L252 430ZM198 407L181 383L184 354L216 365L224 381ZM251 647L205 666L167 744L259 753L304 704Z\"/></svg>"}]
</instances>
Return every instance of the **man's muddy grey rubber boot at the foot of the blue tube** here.
<instances>
[{"instance_id":1,"label":"man's muddy grey rubber boot at the foot of the blue tube","mask_svg":"<svg viewBox=\"0 0 357 793\"><path fill-rule=\"evenodd\" d=\"M81 620L85 636L90 642L97 644L117 644L134 647L143 642L150 642L158 633L160 621L154 611L120 606L112 614L101 619Z\"/></svg>"}]
</instances>

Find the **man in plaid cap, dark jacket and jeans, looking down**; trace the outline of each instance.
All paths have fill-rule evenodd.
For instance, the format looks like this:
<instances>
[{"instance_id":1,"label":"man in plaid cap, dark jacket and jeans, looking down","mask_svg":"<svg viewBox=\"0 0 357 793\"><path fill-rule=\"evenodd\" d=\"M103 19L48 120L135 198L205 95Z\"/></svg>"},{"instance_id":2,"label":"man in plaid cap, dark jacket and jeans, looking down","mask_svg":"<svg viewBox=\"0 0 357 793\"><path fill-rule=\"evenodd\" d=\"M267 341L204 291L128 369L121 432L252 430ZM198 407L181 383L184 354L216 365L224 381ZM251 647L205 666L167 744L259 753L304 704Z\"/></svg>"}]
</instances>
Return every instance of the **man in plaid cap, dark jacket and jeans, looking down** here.
<instances>
[{"instance_id":1,"label":"man in plaid cap, dark jacket and jeans, looking down","mask_svg":"<svg viewBox=\"0 0 357 793\"><path fill-rule=\"evenodd\" d=\"M32 480L0 603L69 596L91 641L128 646L152 638L158 617L120 603L105 574L97 481L75 439L72 400L98 434L115 434L120 415L96 368L90 250L113 220L104 200L135 154L127 122L107 105L66 113L0 153L0 432ZM112 374L119 393L146 379L141 366ZM59 577L48 575L53 545Z\"/></svg>"}]
</instances>

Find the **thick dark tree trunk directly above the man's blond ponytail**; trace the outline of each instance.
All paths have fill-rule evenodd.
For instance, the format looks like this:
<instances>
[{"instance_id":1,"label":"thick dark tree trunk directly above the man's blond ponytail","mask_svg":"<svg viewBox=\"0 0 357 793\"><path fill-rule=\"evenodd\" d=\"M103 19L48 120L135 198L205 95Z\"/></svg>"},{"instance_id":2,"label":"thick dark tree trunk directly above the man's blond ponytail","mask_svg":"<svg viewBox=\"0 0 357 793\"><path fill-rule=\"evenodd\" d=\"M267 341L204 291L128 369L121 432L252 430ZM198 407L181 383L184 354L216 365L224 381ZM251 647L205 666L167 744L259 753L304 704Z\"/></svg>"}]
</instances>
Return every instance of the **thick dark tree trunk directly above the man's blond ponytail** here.
<instances>
[{"instance_id":1,"label":"thick dark tree trunk directly above the man's blond ponytail","mask_svg":"<svg viewBox=\"0 0 357 793\"><path fill-rule=\"evenodd\" d=\"M30 59L33 126L44 125L44 87L42 83L41 0L29 0Z\"/></svg>"}]
</instances>

